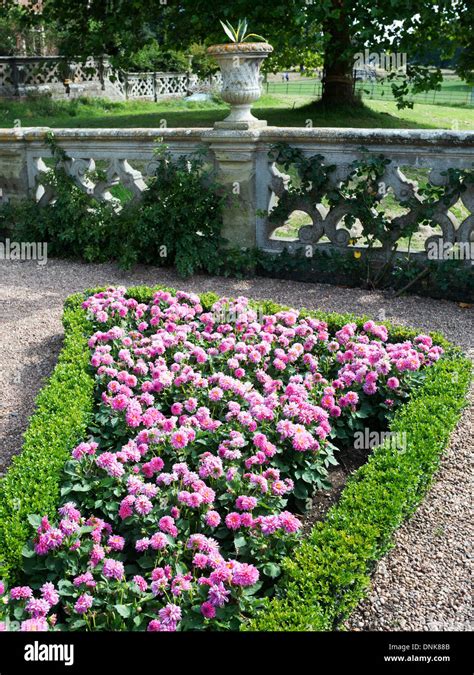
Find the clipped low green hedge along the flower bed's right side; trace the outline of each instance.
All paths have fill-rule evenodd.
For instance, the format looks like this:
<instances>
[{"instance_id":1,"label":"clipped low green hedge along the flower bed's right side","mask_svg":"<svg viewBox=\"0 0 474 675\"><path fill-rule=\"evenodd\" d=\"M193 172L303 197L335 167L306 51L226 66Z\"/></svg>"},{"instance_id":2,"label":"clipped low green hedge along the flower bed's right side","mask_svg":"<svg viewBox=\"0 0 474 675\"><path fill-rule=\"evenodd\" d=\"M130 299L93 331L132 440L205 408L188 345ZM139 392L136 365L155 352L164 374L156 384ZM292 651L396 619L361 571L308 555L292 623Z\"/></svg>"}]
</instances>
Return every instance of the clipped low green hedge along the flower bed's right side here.
<instances>
[{"instance_id":1,"label":"clipped low green hedge along the flower bed's right side","mask_svg":"<svg viewBox=\"0 0 474 675\"><path fill-rule=\"evenodd\" d=\"M278 598L245 627L256 631L334 630L362 599L375 563L423 498L459 418L471 363L455 353L427 374L397 413L393 432L407 449L375 449L342 497L284 563Z\"/></svg>"}]
</instances>

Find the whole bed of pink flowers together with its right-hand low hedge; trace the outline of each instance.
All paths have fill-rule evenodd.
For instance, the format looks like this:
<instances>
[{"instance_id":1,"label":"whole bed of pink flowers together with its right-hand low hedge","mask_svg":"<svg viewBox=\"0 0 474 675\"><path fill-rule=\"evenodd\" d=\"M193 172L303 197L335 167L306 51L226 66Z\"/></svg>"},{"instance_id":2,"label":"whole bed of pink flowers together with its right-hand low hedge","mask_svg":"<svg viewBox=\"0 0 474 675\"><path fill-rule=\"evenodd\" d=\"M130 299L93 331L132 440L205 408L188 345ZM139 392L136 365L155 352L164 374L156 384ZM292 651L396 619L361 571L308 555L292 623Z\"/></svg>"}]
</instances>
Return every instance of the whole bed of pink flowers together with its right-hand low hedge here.
<instances>
[{"instance_id":1,"label":"whole bed of pink flowers together with its right-hand low hedge","mask_svg":"<svg viewBox=\"0 0 474 675\"><path fill-rule=\"evenodd\" d=\"M73 307L68 311L84 320ZM387 328L371 321L325 321L269 303L252 308L245 298L115 289L88 297L84 309L94 415L87 435L68 448L64 474L57 466L51 471L51 484L61 484L59 513L53 497L37 509L40 515L29 516L36 535L23 550L24 585L9 591L10 618L24 630L236 629L267 605L252 627L337 624L360 596L369 564L422 494L442 444L415 461L409 475L410 450L379 448L305 541L297 514L326 486L337 447L368 421L395 428L411 405L402 404L433 386L432 373L451 368L461 374L453 382L457 398L447 386L449 410L437 399L449 433L462 405L466 362L446 342L440 358L443 348L430 336L407 340L405 331L403 341L391 342ZM84 347L85 324L79 325L76 339ZM78 440L82 430L78 425ZM66 459L63 450L58 463ZM23 504L17 541L8 539L4 518L19 467L31 459L22 454L15 462L0 502L0 550L11 577L33 509ZM379 473L371 483L374 467ZM372 500L380 501L377 490L386 492L384 502L372 503L380 522L365 529L370 504L362 500L362 515L355 507L364 471ZM389 499L386 515L391 490L396 499ZM334 597L329 585L315 598L329 563L334 579L345 575L338 581L345 591L333 579ZM268 605L275 587L280 597ZM296 620L298 603L306 613Z\"/></svg>"}]
</instances>

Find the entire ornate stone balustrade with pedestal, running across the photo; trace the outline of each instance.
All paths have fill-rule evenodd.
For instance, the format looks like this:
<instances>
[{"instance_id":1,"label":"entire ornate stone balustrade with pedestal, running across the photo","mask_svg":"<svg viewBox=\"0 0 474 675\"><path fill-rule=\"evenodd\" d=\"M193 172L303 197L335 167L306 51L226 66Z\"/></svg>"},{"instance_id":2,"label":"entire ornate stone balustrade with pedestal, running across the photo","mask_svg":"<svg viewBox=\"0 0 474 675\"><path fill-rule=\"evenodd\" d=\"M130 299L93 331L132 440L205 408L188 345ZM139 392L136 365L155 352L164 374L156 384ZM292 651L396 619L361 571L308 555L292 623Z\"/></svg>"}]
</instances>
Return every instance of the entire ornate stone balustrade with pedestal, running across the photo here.
<instances>
[{"instance_id":1,"label":"entire ornate stone balustrade with pedestal, running across the photo","mask_svg":"<svg viewBox=\"0 0 474 675\"><path fill-rule=\"evenodd\" d=\"M51 156L45 143L47 132L0 130L3 200L30 196L40 205L54 200L51 188L43 180ZM70 158L67 169L76 183L98 199L110 199L111 188L119 184L139 199L153 174L157 145L165 144L174 156L189 155L204 147L217 179L229 195L223 235L232 245L269 251L363 247L362 224L352 222L349 228L345 221L349 204L344 200L331 203L327 192L345 181L353 162L364 158L367 152L390 160L371 189L380 197L377 202L393 215L391 243L399 244L403 250L402 235L407 224L416 230L416 255L426 255L428 245L438 240L448 244L474 241L473 183L466 184L462 194L431 205L431 227L418 226L425 208L418 181L443 186L448 180L443 174L448 169L473 169L474 132L266 127L57 129L54 134ZM304 193L288 193L289 176L270 152L278 143L300 149L303 156L320 155L322 166L335 167L329 182L321 189L313 185ZM101 180L91 179L95 168L101 169ZM284 213L275 223L268 214L278 203L283 205Z\"/></svg>"}]
</instances>

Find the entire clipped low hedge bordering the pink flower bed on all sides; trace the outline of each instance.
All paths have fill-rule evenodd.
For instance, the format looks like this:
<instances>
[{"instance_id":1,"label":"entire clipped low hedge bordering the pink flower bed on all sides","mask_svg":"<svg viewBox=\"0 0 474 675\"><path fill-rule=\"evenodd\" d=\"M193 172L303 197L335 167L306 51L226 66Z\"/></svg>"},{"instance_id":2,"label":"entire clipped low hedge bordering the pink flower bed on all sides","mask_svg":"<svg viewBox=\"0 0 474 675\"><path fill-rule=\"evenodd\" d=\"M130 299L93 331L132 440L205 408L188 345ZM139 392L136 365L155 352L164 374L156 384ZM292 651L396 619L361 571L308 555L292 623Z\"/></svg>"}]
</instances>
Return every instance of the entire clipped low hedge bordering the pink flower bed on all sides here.
<instances>
[{"instance_id":1,"label":"entire clipped low hedge bordering the pink flower bed on all sides","mask_svg":"<svg viewBox=\"0 0 474 675\"><path fill-rule=\"evenodd\" d=\"M129 294L140 302L154 290L137 286ZM64 311L65 343L56 369L37 399L24 446L1 483L0 576L21 577L21 551L32 530L31 513L53 515L59 502L62 469L87 428L93 409L87 335L91 324L81 308L98 289L68 298ZM204 293L205 309L218 299ZM266 313L283 309L272 301L252 301ZM366 317L301 310L338 330L347 321ZM394 341L417 331L387 324ZM244 630L334 630L363 597L376 562L391 547L395 530L413 513L438 467L451 431L465 405L471 362L442 335L431 333L446 354L427 371L423 385L399 409L392 432L406 433L406 450L390 443L377 447L349 479L341 499L323 522L284 560L277 597L268 600Z\"/></svg>"}]
</instances>

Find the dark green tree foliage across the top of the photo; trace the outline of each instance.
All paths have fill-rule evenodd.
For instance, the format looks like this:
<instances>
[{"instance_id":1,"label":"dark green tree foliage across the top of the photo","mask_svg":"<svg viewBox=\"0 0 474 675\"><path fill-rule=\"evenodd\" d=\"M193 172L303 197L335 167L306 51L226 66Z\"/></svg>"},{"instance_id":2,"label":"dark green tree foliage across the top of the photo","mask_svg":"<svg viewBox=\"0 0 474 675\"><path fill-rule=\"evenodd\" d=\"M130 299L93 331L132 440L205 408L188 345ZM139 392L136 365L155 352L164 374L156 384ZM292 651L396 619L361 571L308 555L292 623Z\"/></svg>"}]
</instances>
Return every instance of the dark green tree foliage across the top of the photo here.
<instances>
[{"instance_id":1,"label":"dark green tree foliage across the top of the photo","mask_svg":"<svg viewBox=\"0 0 474 675\"><path fill-rule=\"evenodd\" d=\"M6 0L4 5L12 4ZM392 74L399 99L439 86L440 69L416 65L436 51L458 74L474 78L472 0L43 0L42 13L23 9L25 22L54 24L60 51L71 56L123 57L156 41L163 49L226 40L218 19L247 18L252 32L274 47L265 64L277 71L324 66L327 103L353 95L355 56L407 55L405 75ZM416 56L416 59L415 59ZM416 63L415 63L416 61Z\"/></svg>"}]
</instances>

